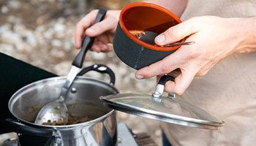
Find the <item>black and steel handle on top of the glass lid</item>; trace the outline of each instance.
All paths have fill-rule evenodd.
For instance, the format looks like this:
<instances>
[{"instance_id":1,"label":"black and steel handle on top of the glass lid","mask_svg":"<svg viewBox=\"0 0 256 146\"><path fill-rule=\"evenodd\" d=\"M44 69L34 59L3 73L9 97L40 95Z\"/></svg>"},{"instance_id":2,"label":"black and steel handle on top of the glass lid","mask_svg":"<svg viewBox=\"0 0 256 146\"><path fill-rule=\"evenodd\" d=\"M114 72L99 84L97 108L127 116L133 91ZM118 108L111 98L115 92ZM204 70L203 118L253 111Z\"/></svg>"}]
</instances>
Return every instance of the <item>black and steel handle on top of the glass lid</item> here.
<instances>
[{"instance_id":1,"label":"black and steel handle on top of the glass lid","mask_svg":"<svg viewBox=\"0 0 256 146\"><path fill-rule=\"evenodd\" d=\"M157 84L156 90L154 91L154 93L152 93L152 98L161 99L162 93L164 93L165 83L167 81L173 81L174 82L174 80L175 80L175 78L173 76L170 76L170 75L162 76L161 79L159 80L158 84ZM174 95L174 94L172 94L172 95Z\"/></svg>"}]
</instances>

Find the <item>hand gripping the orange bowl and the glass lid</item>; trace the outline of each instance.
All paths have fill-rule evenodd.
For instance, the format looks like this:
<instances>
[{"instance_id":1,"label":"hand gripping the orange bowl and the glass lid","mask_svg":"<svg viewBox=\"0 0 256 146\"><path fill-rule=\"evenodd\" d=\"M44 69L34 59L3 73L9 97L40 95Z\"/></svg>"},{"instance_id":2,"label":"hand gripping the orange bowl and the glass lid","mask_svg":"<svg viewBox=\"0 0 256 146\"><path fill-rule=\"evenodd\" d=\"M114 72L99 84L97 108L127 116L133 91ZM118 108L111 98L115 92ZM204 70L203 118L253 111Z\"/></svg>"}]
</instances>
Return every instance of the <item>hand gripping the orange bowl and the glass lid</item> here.
<instances>
[{"instance_id":1,"label":"hand gripping the orange bowl and the glass lid","mask_svg":"<svg viewBox=\"0 0 256 146\"><path fill-rule=\"evenodd\" d=\"M165 84L165 91L181 95L194 77L205 75L223 58L255 49L251 35L255 20L253 22L252 18L202 16L173 26L156 37L157 45L167 45L185 37L187 42L195 44L181 46L162 61L140 69L135 77L146 79L157 76L159 80L162 75L179 69L181 72L175 82Z\"/></svg>"}]
</instances>

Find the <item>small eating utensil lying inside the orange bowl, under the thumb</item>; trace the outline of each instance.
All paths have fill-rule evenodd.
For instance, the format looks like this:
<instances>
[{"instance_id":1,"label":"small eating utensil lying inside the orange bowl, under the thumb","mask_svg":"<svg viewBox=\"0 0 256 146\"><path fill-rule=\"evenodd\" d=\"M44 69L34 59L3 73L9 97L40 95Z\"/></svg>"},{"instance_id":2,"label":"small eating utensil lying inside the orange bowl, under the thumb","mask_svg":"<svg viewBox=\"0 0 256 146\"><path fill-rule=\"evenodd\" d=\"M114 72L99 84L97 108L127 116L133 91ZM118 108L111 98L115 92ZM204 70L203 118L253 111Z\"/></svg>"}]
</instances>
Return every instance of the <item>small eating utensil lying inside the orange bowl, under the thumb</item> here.
<instances>
[{"instance_id":1,"label":"small eating utensil lying inside the orange bowl, under the thumb","mask_svg":"<svg viewBox=\"0 0 256 146\"><path fill-rule=\"evenodd\" d=\"M136 31L132 33L137 39L140 39L143 42L146 42L150 45L156 45L154 43L154 39L159 35L153 31ZM169 45L163 45L161 47L173 47L173 46L181 46L181 45L192 45L195 42L173 42ZM156 45L158 46L158 45Z\"/></svg>"}]
</instances>

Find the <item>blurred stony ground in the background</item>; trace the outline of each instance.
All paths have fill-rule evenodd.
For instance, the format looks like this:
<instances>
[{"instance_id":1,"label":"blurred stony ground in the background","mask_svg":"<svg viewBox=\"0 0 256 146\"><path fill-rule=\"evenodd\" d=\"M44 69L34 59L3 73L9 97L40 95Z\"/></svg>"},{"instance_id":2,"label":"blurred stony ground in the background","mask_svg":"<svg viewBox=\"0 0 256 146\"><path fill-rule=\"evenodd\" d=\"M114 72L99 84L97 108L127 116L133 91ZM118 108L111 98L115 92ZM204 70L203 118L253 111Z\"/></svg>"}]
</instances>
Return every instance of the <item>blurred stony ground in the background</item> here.
<instances>
[{"instance_id":1,"label":"blurred stony ground in the background","mask_svg":"<svg viewBox=\"0 0 256 146\"><path fill-rule=\"evenodd\" d=\"M66 76L75 49L75 25L92 9L121 9L138 0L0 0L0 52L34 66ZM116 73L121 93L153 93L156 79L136 80L135 70L123 64L113 52L86 55L84 66L105 64ZM86 76L109 81L108 76L89 72ZM162 145L159 122L118 112L136 133L147 132Z\"/></svg>"}]
</instances>

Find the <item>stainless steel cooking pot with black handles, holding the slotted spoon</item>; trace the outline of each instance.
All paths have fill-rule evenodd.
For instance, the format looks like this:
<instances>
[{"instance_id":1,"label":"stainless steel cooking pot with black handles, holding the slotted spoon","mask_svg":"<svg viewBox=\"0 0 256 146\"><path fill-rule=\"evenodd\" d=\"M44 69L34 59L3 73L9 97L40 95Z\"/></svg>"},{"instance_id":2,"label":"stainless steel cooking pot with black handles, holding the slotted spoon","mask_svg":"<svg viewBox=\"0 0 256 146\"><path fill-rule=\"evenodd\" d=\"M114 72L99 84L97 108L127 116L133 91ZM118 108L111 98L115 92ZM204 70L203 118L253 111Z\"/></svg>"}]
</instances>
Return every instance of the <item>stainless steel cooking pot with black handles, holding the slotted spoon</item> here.
<instances>
[{"instance_id":1,"label":"stainless steel cooking pot with black handles, holding the slotted spoon","mask_svg":"<svg viewBox=\"0 0 256 146\"><path fill-rule=\"evenodd\" d=\"M66 77L32 82L13 94L8 106L17 120L6 121L12 131L18 133L20 145L116 145L116 111L105 107L99 100L99 96L118 93L113 86L115 75L107 66L97 64L83 69L78 75L91 70L109 74L110 83L76 77L65 99L70 115L94 119L85 123L67 126L34 123L41 107L58 98Z\"/></svg>"}]
</instances>

